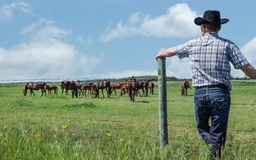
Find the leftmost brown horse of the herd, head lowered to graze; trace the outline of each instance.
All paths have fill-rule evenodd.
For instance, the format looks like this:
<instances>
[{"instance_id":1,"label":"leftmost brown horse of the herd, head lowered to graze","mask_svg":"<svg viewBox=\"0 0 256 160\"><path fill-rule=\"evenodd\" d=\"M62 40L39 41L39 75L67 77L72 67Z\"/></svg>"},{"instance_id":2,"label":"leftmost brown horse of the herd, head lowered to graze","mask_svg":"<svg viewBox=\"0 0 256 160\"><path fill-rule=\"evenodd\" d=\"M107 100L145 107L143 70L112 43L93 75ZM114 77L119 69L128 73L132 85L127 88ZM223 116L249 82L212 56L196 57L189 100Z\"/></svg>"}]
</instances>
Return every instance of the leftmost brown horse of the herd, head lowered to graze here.
<instances>
[{"instance_id":1,"label":"leftmost brown horse of the herd, head lowered to graze","mask_svg":"<svg viewBox=\"0 0 256 160\"><path fill-rule=\"evenodd\" d=\"M45 85L46 83L44 82L29 82L25 85L25 90L23 90L23 95L26 96L27 95L27 91L30 90L30 96L33 95L35 96L35 93L33 92L33 90L40 90L42 91L42 96L45 93L46 96L46 92L45 92Z\"/></svg>"}]
</instances>

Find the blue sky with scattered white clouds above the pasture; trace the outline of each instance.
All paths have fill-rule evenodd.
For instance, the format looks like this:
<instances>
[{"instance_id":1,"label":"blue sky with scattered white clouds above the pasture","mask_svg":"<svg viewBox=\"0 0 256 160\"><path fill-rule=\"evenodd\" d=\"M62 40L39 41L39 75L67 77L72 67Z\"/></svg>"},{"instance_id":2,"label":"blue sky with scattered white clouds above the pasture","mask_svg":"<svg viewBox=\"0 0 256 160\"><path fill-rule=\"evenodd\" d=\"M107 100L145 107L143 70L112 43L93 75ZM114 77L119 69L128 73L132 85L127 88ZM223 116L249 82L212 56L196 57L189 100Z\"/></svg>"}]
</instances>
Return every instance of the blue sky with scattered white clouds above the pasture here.
<instances>
[{"instance_id":1,"label":"blue sky with scattered white clouds above the pasture","mask_svg":"<svg viewBox=\"0 0 256 160\"><path fill-rule=\"evenodd\" d=\"M157 75L157 52L201 36L205 10L230 19L219 33L256 65L255 1L0 0L0 79ZM167 76L190 78L188 59ZM243 77L241 70L232 76Z\"/></svg>"}]
</instances>

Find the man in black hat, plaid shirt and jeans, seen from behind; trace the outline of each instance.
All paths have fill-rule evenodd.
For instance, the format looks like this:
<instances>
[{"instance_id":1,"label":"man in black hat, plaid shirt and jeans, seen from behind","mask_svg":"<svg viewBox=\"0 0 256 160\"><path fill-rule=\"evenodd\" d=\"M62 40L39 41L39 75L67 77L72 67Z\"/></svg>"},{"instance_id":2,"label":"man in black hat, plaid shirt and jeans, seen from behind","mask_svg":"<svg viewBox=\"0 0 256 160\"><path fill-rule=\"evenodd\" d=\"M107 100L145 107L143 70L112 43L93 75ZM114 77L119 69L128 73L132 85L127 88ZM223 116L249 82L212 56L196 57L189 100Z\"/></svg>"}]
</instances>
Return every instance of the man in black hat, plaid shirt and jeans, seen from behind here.
<instances>
[{"instance_id":1,"label":"man in black hat, plaid shirt and jeans, seen from behind","mask_svg":"<svg viewBox=\"0 0 256 160\"><path fill-rule=\"evenodd\" d=\"M221 24L220 12L205 11L197 17L195 24L201 27L202 37L186 44L170 47L157 54L160 57L177 55L188 57L191 64L193 86L195 86L195 115L199 134L205 143L211 144L212 156L221 155L227 135L228 113L230 110L230 63L241 69L247 76L256 79L255 68L248 63L236 44L218 36ZM211 117L211 127L209 118Z\"/></svg>"}]
</instances>

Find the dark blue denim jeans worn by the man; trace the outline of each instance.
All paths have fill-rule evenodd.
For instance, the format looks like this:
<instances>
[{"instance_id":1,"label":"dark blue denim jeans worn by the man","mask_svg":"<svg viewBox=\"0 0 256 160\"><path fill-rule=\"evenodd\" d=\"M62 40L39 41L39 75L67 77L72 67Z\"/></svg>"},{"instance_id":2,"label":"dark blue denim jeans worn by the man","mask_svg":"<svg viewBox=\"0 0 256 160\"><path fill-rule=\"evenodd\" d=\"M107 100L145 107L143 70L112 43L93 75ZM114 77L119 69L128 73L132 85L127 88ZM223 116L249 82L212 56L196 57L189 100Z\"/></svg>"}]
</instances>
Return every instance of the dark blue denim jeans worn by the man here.
<instances>
[{"instance_id":1,"label":"dark blue denim jeans worn by the man","mask_svg":"<svg viewBox=\"0 0 256 160\"><path fill-rule=\"evenodd\" d=\"M227 136L230 92L216 86L200 87L195 90L194 101L198 132L205 143L211 144L212 155L220 157Z\"/></svg>"}]
</instances>

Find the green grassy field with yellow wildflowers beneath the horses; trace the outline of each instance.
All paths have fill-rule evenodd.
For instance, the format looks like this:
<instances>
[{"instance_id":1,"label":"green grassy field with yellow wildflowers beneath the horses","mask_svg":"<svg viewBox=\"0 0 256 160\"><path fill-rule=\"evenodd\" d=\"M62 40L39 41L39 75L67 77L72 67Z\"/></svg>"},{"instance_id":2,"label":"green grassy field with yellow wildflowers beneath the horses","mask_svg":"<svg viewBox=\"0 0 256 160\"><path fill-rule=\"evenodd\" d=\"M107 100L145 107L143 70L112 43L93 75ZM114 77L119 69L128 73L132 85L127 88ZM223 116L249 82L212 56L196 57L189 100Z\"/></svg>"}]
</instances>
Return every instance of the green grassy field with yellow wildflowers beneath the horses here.
<instances>
[{"instance_id":1,"label":"green grassy field with yellow wildflowers beneath the horses","mask_svg":"<svg viewBox=\"0 0 256 160\"><path fill-rule=\"evenodd\" d=\"M133 103L118 95L72 99L60 90L24 97L24 84L0 84L0 159L208 159L196 130L194 88L182 97L180 82L167 84L169 145L159 149L155 84L154 95ZM256 81L232 86L222 158L255 159Z\"/></svg>"}]
</instances>

